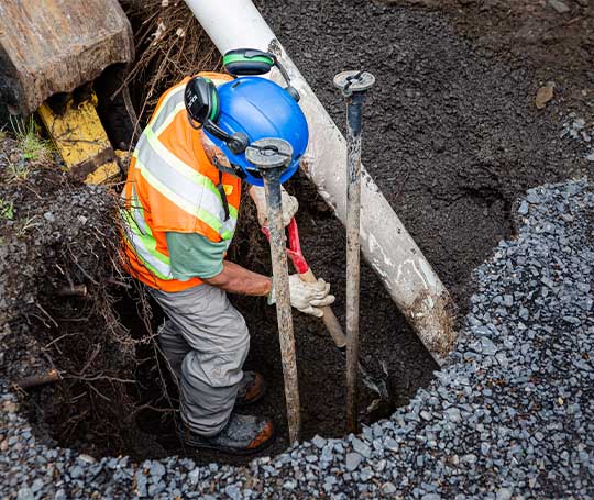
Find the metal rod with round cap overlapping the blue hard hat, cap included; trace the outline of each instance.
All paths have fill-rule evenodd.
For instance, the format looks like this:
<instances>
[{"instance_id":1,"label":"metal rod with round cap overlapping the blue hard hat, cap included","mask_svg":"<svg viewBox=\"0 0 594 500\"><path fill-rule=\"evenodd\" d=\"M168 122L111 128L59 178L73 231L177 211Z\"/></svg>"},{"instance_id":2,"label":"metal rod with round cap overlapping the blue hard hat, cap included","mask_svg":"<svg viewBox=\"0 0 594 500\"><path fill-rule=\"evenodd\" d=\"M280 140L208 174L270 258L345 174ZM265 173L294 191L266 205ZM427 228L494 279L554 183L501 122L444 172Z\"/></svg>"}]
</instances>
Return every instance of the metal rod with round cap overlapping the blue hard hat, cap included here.
<instances>
[{"instance_id":1,"label":"metal rod with round cap overlapping the blue hard hat, cap included","mask_svg":"<svg viewBox=\"0 0 594 500\"><path fill-rule=\"evenodd\" d=\"M245 157L258 169L264 179L266 204L268 207L271 256L276 299L276 318L280 337L283 375L285 378L289 442L293 444L299 441L301 414L288 282L285 224L283 223L280 196L280 174L286 168L292 155L293 148L290 144L278 138L256 141L245 151Z\"/></svg>"}]
</instances>

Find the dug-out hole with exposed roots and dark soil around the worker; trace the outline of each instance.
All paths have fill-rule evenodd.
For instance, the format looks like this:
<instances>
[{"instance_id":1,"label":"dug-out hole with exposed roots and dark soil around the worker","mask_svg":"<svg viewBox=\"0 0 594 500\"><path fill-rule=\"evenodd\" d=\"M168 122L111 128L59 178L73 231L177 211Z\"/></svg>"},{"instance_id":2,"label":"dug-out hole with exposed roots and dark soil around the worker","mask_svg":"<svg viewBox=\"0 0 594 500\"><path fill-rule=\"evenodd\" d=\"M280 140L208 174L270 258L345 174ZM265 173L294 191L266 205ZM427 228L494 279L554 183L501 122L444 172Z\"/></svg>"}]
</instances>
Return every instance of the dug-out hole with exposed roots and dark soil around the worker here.
<instances>
[{"instance_id":1,"label":"dug-out hole with exposed roots and dark soil around the worker","mask_svg":"<svg viewBox=\"0 0 594 500\"><path fill-rule=\"evenodd\" d=\"M3 147L9 157L16 158L11 141L4 140ZM177 440L177 393L152 338L163 313L113 267L119 238L113 222L117 197L72 180L51 162L32 168L21 182L16 190L0 182L0 195L18 209L1 234L13 248L2 262L7 298L13 308L9 311L11 335L2 338L1 375L14 381L53 367L64 374L62 381L22 392L21 407L38 438L51 437L62 447L96 457L129 455L142 460L180 455L198 463L244 463L198 454ZM288 189L301 204L298 221L304 252L312 269L333 285L334 311L343 322L344 230L304 177ZM243 207L230 258L270 274L267 243L253 205L245 201ZM23 229L31 218L38 224ZM70 282L84 284L88 293L58 293ZM274 419L278 438L264 454L275 455L287 446L275 310L264 299L232 297L232 301L252 334L245 368L260 370L268 384L267 396L252 411ZM388 403L363 411L362 422L370 423L406 403L418 387L429 382L436 366L367 267L362 273L362 311L363 355L386 364L392 393ZM344 358L321 321L296 313L295 330L302 438L342 436ZM374 399L362 387L362 410Z\"/></svg>"}]
</instances>

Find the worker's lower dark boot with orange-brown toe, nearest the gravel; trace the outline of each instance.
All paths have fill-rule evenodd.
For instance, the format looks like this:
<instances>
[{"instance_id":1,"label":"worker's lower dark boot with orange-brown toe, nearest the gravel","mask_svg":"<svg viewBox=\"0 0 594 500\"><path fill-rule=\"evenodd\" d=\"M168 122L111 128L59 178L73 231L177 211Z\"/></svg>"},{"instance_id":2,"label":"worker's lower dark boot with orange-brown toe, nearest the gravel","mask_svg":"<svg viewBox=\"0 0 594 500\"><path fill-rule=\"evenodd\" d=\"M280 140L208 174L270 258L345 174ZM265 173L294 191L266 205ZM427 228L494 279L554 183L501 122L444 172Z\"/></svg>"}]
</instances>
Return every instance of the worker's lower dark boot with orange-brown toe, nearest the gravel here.
<instances>
[{"instance_id":1,"label":"worker's lower dark boot with orange-brown toe, nearest the gravel","mask_svg":"<svg viewBox=\"0 0 594 500\"><path fill-rule=\"evenodd\" d=\"M194 448L215 449L233 455L251 455L270 445L274 440L273 423L261 416L232 413L223 430L215 436L201 436L182 423L182 442Z\"/></svg>"}]
</instances>

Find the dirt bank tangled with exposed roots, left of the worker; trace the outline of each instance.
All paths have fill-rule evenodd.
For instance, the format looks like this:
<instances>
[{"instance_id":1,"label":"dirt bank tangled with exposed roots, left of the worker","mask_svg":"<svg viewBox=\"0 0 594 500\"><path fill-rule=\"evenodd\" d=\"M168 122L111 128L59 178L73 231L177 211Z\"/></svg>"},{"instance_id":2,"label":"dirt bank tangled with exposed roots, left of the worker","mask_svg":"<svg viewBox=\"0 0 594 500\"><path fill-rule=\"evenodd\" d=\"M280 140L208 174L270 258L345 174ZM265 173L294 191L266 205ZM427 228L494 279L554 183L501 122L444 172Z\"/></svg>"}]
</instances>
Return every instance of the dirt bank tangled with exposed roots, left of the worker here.
<instances>
[{"instance_id":1,"label":"dirt bank tangled with exposed roots, left of the worker","mask_svg":"<svg viewBox=\"0 0 594 500\"><path fill-rule=\"evenodd\" d=\"M62 444L95 435L121 446L135 355L112 307L117 199L62 171L42 142L28 153L3 138L0 152L0 375L56 369L62 380L26 399L33 423Z\"/></svg>"}]
</instances>

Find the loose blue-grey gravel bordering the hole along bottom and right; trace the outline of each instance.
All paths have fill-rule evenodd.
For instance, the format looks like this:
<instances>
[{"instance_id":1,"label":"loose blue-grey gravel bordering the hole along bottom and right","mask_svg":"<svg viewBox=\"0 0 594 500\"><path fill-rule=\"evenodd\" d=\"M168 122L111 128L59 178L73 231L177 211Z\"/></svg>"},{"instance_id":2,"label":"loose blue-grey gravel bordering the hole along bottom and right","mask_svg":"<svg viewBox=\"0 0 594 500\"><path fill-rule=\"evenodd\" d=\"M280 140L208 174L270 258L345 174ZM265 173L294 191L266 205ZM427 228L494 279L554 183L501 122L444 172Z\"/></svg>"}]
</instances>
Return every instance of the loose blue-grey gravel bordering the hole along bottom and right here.
<instances>
[{"instance_id":1,"label":"loose blue-grey gravel bordering the hole along bottom and right","mask_svg":"<svg viewBox=\"0 0 594 500\"><path fill-rule=\"evenodd\" d=\"M536 188L475 273L448 366L391 420L250 467L96 462L36 441L0 391L9 498L592 498L594 185Z\"/></svg>"}]
</instances>

